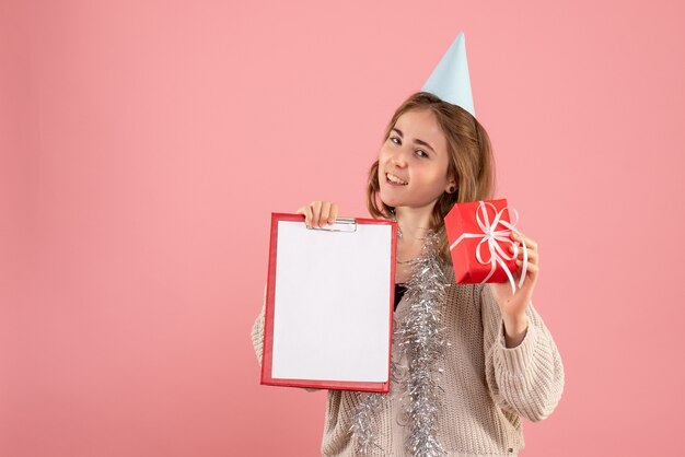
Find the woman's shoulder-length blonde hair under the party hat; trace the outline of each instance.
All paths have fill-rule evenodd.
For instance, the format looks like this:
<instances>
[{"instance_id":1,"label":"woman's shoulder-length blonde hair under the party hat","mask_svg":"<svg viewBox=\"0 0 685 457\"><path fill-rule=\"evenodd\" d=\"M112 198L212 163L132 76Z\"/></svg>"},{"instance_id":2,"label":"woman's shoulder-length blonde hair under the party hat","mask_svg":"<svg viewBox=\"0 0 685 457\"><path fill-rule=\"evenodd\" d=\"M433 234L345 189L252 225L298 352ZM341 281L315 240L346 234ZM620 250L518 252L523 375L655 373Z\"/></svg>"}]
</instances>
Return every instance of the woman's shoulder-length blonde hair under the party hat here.
<instances>
[{"instance_id":1,"label":"woman's shoulder-length blonde hair under the party hat","mask_svg":"<svg viewBox=\"0 0 685 457\"><path fill-rule=\"evenodd\" d=\"M428 92L417 92L397 108L385 128L383 143L387 141L395 122L413 109L431 110L440 125L448 142L448 178L457 183L456 191L443 192L430 218L430 228L441 233L440 254L443 260L451 261L443 219L454 203L490 200L495 194L495 159L490 138L485 128L467 110L457 105L443 102ZM388 207L379 198L379 161L369 169L367 186L367 208L373 218L391 219L395 208Z\"/></svg>"}]
</instances>

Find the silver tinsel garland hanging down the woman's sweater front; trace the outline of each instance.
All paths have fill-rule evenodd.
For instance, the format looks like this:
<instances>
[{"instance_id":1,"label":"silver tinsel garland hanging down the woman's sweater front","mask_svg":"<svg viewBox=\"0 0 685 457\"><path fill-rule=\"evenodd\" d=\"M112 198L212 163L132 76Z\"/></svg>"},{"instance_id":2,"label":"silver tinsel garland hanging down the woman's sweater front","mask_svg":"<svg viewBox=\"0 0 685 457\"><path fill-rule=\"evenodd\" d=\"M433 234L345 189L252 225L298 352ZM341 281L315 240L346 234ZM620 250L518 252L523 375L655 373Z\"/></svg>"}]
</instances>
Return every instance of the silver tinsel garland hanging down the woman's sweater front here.
<instances>
[{"instance_id":1,"label":"silver tinsel garland hanging down the woman's sweater front","mask_svg":"<svg viewBox=\"0 0 685 457\"><path fill-rule=\"evenodd\" d=\"M437 438L438 417L442 408L438 385L442 374L439 361L449 345L444 338L440 305L444 302L445 289L450 283L439 256L440 239L440 233L428 231L421 254L410 262L413 273L406 282L405 292L408 312L405 320L393 332L399 359L406 354L409 361L408 375L393 377L400 379L399 400L408 420L409 433L405 447L416 457L446 454ZM396 373L395 361L392 368ZM388 399L385 394L358 395L360 401L352 418L351 432L357 438L359 455L368 455L372 446L381 447L375 441L376 432L372 422Z\"/></svg>"}]
</instances>

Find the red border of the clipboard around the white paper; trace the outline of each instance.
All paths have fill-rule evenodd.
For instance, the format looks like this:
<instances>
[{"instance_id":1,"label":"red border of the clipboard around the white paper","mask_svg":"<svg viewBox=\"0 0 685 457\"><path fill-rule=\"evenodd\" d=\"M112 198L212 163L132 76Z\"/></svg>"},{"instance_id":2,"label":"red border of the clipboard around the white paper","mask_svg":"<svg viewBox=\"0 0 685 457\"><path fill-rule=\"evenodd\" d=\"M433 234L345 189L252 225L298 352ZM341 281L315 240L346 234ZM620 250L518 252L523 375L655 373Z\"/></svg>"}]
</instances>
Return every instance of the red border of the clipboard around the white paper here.
<instances>
[{"instance_id":1,"label":"red border of the clipboard around the white paper","mask_svg":"<svg viewBox=\"0 0 685 457\"><path fill-rule=\"evenodd\" d=\"M313 379L283 379L271 376L274 355L274 297L276 294L276 253L278 251L278 222L294 221L304 223L304 214L271 213L271 228L269 239L269 261L267 271L266 306L264 315L264 344L262 355L262 385L280 387L303 387L313 389L332 390L359 390L387 394L390 391L391 356L393 344L393 315L395 312L395 253L397 249L397 223L384 219L355 218L357 224L391 225L391 274L390 274L390 304L388 326L390 340L387 353L387 380L386 382L341 382L341 380L313 380Z\"/></svg>"}]
</instances>

